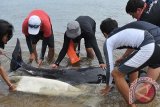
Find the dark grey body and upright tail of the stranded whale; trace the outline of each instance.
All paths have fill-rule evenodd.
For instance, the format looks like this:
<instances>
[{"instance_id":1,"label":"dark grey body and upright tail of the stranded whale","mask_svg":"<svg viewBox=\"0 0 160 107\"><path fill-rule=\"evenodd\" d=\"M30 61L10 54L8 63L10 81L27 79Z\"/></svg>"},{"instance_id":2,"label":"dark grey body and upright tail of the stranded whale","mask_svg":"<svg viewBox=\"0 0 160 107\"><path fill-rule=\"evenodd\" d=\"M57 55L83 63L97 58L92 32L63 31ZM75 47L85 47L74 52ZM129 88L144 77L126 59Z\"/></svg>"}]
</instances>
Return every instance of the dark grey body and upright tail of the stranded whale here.
<instances>
[{"instance_id":1,"label":"dark grey body and upright tail of the stranded whale","mask_svg":"<svg viewBox=\"0 0 160 107\"><path fill-rule=\"evenodd\" d=\"M12 60L10 63L11 71L20 69L32 76L40 76L45 78L57 79L70 84L84 84L84 83L105 83L105 70L99 67L88 68L70 68L70 69L45 69L36 68L24 63L21 56L20 41L17 39L16 47L12 53Z\"/></svg>"}]
</instances>

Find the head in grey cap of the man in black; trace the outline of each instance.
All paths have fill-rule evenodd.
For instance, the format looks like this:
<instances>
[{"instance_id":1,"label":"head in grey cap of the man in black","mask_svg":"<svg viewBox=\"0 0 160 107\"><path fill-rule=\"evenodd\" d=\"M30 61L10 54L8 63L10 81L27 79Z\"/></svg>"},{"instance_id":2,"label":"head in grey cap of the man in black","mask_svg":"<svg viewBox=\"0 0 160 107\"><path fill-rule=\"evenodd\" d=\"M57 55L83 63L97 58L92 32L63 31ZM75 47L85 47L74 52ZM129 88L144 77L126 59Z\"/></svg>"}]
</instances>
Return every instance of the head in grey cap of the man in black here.
<instances>
[{"instance_id":1,"label":"head in grey cap of the man in black","mask_svg":"<svg viewBox=\"0 0 160 107\"><path fill-rule=\"evenodd\" d=\"M74 39L81 35L81 28L77 21L71 21L67 24L67 37Z\"/></svg>"}]
</instances>

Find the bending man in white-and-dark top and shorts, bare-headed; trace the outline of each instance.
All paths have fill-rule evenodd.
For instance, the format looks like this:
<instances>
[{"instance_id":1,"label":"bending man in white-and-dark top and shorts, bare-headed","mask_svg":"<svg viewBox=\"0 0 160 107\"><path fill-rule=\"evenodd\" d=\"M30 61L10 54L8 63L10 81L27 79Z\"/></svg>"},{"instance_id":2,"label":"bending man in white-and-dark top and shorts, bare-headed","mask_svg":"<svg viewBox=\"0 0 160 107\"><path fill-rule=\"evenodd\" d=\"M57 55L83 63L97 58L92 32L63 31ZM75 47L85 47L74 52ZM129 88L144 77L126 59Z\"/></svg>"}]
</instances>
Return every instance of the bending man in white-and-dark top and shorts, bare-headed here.
<instances>
[{"instance_id":1,"label":"bending man in white-and-dark top and shorts, bare-headed","mask_svg":"<svg viewBox=\"0 0 160 107\"><path fill-rule=\"evenodd\" d=\"M114 78L115 84L127 103L129 103L129 86L125 80L126 74L131 74L148 66L147 76L153 80L160 77L160 28L153 24L136 21L118 28L113 19L106 19L101 23L101 31L107 38L104 43L106 57L107 85L102 94L110 91ZM150 32L150 33L149 33ZM128 53L120 64L114 68L112 51L117 48L135 49ZM135 107L135 104L130 104Z\"/></svg>"}]
</instances>

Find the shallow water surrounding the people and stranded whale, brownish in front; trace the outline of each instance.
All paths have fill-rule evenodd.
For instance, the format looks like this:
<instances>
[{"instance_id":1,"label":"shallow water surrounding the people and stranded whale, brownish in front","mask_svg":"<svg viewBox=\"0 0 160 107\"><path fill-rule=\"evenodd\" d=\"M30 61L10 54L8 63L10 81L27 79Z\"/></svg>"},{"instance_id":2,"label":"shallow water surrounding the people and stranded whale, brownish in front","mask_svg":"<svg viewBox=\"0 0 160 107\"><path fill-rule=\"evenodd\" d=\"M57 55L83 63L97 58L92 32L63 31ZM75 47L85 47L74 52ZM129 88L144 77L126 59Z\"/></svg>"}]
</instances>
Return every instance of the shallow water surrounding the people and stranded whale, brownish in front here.
<instances>
[{"instance_id":1,"label":"shallow water surrounding the people and stranded whale, brownish in front","mask_svg":"<svg viewBox=\"0 0 160 107\"><path fill-rule=\"evenodd\" d=\"M21 26L24 18L33 9L43 9L51 17L53 31L55 36L56 57L63 44L63 33L66 30L67 22L76 19L80 15L89 15L95 19L97 23L96 37L99 48L103 53L104 37L100 33L99 25L102 20L107 17L117 19L119 25L124 25L133 21L132 17L125 13L125 5L127 0L3 0L0 3L1 19L8 20L15 27L14 37L6 45L7 55L11 53L15 47L16 39L20 38L22 54L24 61L27 61L29 53L25 42L24 35L21 33ZM82 44L81 54L83 57L78 67L98 66L96 58L88 60L85 58L86 53ZM41 43L38 43L38 52ZM118 57L122 51L115 51ZM103 56L104 57L104 56ZM0 56L6 70L9 70L10 60ZM36 64L33 64L36 66ZM43 67L48 67L44 63ZM61 66L71 67L68 59L65 58ZM1 79L2 80L2 79ZM77 86L80 89L88 91L88 93L76 98L67 97L48 97L33 95L21 92L8 92L6 84L0 81L0 107L125 107L126 103L116 90L112 94L104 97L99 94L99 90L103 85L83 84ZM142 107L159 107L159 95L151 104L140 105Z\"/></svg>"}]
</instances>

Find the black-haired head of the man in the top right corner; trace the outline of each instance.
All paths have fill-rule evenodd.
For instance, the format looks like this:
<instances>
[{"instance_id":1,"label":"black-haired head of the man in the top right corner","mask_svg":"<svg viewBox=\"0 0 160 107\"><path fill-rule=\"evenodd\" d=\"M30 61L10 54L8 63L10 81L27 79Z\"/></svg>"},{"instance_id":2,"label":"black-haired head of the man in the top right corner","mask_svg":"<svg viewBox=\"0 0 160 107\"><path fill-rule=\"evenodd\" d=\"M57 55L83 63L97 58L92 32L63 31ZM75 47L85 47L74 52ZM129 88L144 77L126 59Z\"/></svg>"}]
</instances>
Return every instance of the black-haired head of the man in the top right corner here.
<instances>
[{"instance_id":1,"label":"black-haired head of the man in the top right corner","mask_svg":"<svg viewBox=\"0 0 160 107\"><path fill-rule=\"evenodd\" d=\"M144 11L144 6L143 0L129 0L126 5L126 12L133 18L139 19Z\"/></svg>"}]
</instances>

